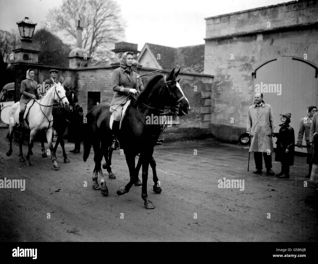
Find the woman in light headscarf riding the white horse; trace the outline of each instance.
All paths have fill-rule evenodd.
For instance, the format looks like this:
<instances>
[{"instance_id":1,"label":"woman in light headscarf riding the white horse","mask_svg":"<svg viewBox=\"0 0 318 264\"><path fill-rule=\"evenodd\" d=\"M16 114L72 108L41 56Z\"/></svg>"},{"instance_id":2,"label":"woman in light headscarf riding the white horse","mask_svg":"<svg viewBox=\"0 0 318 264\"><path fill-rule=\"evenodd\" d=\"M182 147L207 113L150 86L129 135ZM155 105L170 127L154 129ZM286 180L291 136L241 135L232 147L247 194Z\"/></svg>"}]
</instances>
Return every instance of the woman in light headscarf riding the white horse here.
<instances>
[{"instance_id":1,"label":"woman in light headscarf riding the white horse","mask_svg":"<svg viewBox=\"0 0 318 264\"><path fill-rule=\"evenodd\" d=\"M39 95L38 93L38 82L34 81L34 70L28 69L26 72L26 79L21 82L20 92L20 113L19 113L19 124L18 128L22 128L23 126L23 116L27 103L31 99L36 99Z\"/></svg>"}]
</instances>

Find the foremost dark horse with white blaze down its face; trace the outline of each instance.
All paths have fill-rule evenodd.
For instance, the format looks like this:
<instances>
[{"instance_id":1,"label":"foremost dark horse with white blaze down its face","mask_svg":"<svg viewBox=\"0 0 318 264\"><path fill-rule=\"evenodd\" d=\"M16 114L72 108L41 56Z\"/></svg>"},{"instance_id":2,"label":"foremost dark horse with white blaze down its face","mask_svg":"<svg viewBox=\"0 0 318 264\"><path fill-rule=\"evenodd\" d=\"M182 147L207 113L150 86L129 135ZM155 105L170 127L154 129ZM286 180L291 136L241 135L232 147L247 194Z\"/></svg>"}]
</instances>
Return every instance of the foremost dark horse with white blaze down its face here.
<instances>
[{"instance_id":1,"label":"foremost dark horse with white blaze down its face","mask_svg":"<svg viewBox=\"0 0 318 264\"><path fill-rule=\"evenodd\" d=\"M180 71L180 70L179 70ZM131 186L136 182L135 157L140 153L142 160L142 199L145 201L146 209L153 209L152 202L147 195L147 180L149 162L154 151L154 146L159 137L158 125L146 125L146 118L153 116L160 117L160 114L177 114L179 116L188 114L190 104L184 96L183 91L176 81L179 71L174 74L174 69L169 76L152 76L145 86L145 89L132 101L123 118L119 132L119 142L124 150L129 169L130 181L125 187L117 190L118 195L129 192ZM168 108L165 106L169 106ZM170 107L171 106L171 107ZM174 111L171 111L173 109ZM108 195L108 189L101 170L101 160L105 156L107 171L110 168L110 159L107 155L108 147L112 142L112 131L109 128L110 112L108 106L94 107L87 115L85 128L84 154L86 161L93 144L95 168L93 171L93 189L99 189L97 182L98 172L100 173L100 185L103 195ZM100 144L101 143L101 144ZM154 187L157 186L158 178L154 174Z\"/></svg>"}]
</instances>

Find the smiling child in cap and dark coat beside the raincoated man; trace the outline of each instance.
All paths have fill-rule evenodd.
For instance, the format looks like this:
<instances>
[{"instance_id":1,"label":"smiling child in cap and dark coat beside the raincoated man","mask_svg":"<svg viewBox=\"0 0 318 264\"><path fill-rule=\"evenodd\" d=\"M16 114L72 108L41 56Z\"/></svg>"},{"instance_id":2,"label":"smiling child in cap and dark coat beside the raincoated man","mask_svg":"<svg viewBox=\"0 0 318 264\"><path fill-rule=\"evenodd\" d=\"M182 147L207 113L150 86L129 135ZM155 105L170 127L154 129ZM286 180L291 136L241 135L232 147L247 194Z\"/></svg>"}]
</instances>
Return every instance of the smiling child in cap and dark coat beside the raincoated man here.
<instances>
[{"instance_id":1,"label":"smiling child in cap and dark coat beside the raincoated man","mask_svg":"<svg viewBox=\"0 0 318 264\"><path fill-rule=\"evenodd\" d=\"M289 125L291 113L280 116L280 125L276 142L275 161L281 162L281 171L276 174L279 178L289 178L289 166L294 165L295 133Z\"/></svg>"}]
</instances>

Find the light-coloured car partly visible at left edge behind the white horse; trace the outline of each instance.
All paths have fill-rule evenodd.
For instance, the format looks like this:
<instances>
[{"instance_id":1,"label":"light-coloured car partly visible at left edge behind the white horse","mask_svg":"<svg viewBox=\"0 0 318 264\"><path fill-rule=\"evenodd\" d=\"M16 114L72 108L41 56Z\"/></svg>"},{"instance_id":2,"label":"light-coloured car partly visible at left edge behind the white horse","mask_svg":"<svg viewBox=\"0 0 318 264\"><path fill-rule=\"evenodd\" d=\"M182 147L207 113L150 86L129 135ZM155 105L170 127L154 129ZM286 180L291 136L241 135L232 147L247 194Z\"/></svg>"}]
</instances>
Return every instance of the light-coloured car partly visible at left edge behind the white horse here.
<instances>
[{"instance_id":1,"label":"light-coloured car partly visible at left edge behind the white horse","mask_svg":"<svg viewBox=\"0 0 318 264\"><path fill-rule=\"evenodd\" d=\"M0 92L0 123L9 125L9 110L14 104L14 82L9 82L3 86Z\"/></svg>"}]
</instances>

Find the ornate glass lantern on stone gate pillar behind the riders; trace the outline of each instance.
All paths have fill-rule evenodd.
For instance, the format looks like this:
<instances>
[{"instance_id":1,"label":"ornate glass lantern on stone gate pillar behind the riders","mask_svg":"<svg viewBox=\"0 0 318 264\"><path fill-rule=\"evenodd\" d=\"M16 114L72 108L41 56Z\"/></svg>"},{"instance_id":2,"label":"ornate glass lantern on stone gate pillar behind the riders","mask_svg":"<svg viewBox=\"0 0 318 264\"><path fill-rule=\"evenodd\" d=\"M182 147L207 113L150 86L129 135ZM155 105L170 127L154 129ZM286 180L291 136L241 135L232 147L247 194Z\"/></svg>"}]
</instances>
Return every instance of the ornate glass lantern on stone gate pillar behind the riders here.
<instances>
[{"instance_id":1,"label":"ornate glass lantern on stone gate pillar behind the riders","mask_svg":"<svg viewBox=\"0 0 318 264\"><path fill-rule=\"evenodd\" d=\"M22 21L17 22L17 25L21 36L21 43L16 49L12 50L15 53L15 62L12 63L15 73L15 102L20 100L20 84L22 80L25 79L28 68L33 68L37 75L37 66L41 64L38 63L38 53L40 51L37 49L38 47L32 43L31 39L37 24L33 24L29 18L25 17ZM37 77L35 77L35 79L36 78Z\"/></svg>"}]
</instances>

